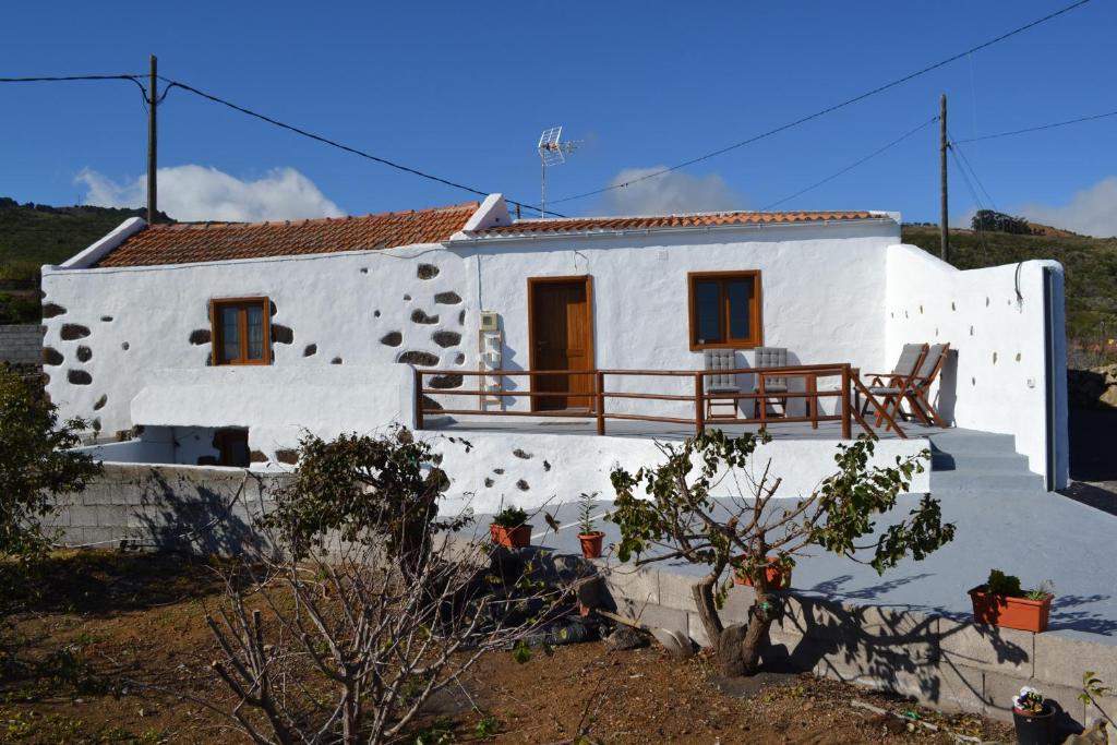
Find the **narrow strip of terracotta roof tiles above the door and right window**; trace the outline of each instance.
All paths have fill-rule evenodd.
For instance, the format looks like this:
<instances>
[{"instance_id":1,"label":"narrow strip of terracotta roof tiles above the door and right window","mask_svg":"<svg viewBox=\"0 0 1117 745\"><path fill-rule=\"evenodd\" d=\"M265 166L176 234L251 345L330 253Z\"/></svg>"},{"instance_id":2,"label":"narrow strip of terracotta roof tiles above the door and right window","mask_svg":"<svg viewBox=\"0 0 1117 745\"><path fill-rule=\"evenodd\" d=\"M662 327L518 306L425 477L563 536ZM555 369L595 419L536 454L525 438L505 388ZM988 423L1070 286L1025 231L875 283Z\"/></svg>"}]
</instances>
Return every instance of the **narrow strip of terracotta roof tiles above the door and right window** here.
<instances>
[{"instance_id":1,"label":"narrow strip of terracotta roof tiles above the door and right window","mask_svg":"<svg viewBox=\"0 0 1117 745\"><path fill-rule=\"evenodd\" d=\"M879 214L846 212L704 212L695 214L655 214L629 218L557 218L518 220L507 226L478 230L472 235L516 236L522 233L565 233L593 230L645 230L649 228L703 228L707 226L817 222L821 220L867 220Z\"/></svg>"}]
</instances>

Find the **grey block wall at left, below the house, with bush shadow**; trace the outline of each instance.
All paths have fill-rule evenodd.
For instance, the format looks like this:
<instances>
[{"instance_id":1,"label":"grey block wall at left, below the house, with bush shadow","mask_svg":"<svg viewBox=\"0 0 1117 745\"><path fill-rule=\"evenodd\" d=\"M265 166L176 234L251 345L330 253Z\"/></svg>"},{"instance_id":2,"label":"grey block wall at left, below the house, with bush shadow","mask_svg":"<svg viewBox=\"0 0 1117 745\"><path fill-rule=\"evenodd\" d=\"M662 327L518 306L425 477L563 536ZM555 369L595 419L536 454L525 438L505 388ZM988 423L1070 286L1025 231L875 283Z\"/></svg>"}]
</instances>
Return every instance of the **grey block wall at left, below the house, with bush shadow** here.
<instances>
[{"instance_id":1,"label":"grey block wall at left, below the house, with bush shadow","mask_svg":"<svg viewBox=\"0 0 1117 745\"><path fill-rule=\"evenodd\" d=\"M233 555L260 536L252 520L290 476L232 468L105 464L80 494L58 498L54 527L68 546Z\"/></svg>"}]
</instances>

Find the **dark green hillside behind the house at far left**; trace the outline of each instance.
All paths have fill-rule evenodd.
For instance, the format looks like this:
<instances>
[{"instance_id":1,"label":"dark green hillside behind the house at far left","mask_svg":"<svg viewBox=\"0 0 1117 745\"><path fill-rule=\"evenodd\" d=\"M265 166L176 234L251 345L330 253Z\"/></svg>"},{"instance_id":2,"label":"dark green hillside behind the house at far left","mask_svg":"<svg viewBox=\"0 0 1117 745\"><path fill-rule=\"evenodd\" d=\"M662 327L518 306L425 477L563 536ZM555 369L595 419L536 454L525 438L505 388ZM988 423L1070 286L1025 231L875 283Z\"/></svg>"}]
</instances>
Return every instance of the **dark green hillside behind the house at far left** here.
<instances>
[{"instance_id":1,"label":"dark green hillside behind the house at far left","mask_svg":"<svg viewBox=\"0 0 1117 745\"><path fill-rule=\"evenodd\" d=\"M20 204L0 197L0 324L39 321L39 267L61 264L128 218L144 214L141 209Z\"/></svg>"}]
</instances>

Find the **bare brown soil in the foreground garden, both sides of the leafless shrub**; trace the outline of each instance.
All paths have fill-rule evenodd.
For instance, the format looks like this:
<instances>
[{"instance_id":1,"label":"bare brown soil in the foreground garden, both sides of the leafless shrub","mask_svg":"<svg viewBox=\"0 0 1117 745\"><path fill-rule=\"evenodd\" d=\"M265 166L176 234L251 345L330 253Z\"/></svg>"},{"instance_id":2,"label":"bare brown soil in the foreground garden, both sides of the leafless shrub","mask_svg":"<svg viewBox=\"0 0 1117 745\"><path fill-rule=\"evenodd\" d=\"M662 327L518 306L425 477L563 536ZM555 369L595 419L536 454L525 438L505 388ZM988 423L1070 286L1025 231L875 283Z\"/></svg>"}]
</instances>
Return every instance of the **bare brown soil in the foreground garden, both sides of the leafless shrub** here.
<instances>
[{"instance_id":1,"label":"bare brown soil in the foreground garden, both sides of the leafless shrub","mask_svg":"<svg viewBox=\"0 0 1117 745\"><path fill-rule=\"evenodd\" d=\"M0 743L245 742L191 700L229 704L209 668L214 647L202 620L222 586L197 560L58 556L41 599L0 629ZM608 745L956 742L947 730L1012 741L997 723L810 677L748 681L747 698L741 681L727 682L724 693L700 655L677 661L656 648L608 652L589 642L523 665L493 653L404 742L558 745L580 733Z\"/></svg>"}]
</instances>

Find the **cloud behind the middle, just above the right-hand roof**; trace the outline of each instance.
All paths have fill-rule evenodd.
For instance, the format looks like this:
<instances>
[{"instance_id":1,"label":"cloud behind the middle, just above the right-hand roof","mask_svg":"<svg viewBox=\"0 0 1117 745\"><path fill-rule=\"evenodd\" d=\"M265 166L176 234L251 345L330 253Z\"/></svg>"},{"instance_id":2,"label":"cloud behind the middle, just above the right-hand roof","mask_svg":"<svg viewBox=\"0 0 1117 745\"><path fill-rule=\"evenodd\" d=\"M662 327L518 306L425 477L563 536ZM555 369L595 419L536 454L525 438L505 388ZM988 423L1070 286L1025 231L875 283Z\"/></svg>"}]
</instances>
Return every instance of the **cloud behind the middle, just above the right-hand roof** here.
<instances>
[{"instance_id":1,"label":"cloud behind the middle, just above the right-hand roof","mask_svg":"<svg viewBox=\"0 0 1117 745\"><path fill-rule=\"evenodd\" d=\"M605 194L609 214L670 214L678 212L716 212L745 209L745 198L729 188L716 173L690 175L671 171L663 175L630 183L665 166L624 169L610 185L629 185Z\"/></svg>"}]
</instances>

